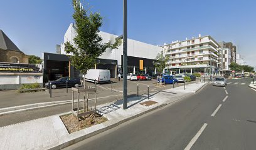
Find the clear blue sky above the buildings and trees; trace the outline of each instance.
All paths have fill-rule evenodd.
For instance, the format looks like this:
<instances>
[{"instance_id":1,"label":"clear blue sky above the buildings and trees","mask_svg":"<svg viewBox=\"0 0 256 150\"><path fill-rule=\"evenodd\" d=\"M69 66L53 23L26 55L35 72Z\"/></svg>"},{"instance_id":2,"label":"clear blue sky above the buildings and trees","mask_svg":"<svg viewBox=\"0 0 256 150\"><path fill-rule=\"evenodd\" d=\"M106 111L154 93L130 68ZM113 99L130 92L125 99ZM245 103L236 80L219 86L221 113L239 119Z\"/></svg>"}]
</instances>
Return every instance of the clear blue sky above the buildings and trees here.
<instances>
[{"instance_id":1,"label":"clear blue sky above the buildings and trees","mask_svg":"<svg viewBox=\"0 0 256 150\"><path fill-rule=\"evenodd\" d=\"M88 0L100 12L100 30L122 34L122 0ZM71 0L0 0L0 29L26 54L55 53L73 22ZM210 35L233 42L247 64L256 65L256 1L128 0L128 37L163 45Z\"/></svg>"}]
</instances>

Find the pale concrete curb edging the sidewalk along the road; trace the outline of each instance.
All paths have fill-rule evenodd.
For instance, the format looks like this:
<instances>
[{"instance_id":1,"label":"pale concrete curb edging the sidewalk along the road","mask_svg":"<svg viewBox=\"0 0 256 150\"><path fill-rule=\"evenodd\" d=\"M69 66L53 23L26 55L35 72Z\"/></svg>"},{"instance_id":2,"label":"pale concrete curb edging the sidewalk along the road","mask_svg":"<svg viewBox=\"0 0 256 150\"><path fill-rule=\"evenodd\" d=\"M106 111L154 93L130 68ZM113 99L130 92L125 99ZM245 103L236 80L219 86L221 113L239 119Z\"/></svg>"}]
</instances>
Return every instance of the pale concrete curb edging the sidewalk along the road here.
<instances>
[{"instance_id":1,"label":"pale concrete curb edging the sidewalk along the road","mask_svg":"<svg viewBox=\"0 0 256 150\"><path fill-rule=\"evenodd\" d=\"M206 84L207 84L207 83L206 83ZM202 89L203 87L205 87L206 84L204 84L204 85L201 86L200 88L196 89L195 93L196 93L197 91L199 91L200 89ZM137 118L137 117L139 117L139 116L142 116L142 115L144 115L144 114L147 114L147 113L149 113L149 112L151 112L151 111L154 111L154 110L160 109L160 108L164 108L164 106L169 106L169 104L177 103L177 102L180 101L181 99L187 98L188 96L191 96L192 94L195 94L195 93L187 94L186 96L182 96L181 98L178 98L178 99L176 99L175 101L172 101L172 102L170 102L170 103L161 104L161 105L159 105L159 106L156 106L155 108L148 109L148 110L146 110L146 111L144 111L144 112L141 112L141 113L136 114L136 115L134 115L134 116L131 116L131 117L129 117L129 118L125 118L125 119L123 119L123 120L121 120L121 121L117 121L117 123L110 124L110 126L106 126L105 128L99 129L99 130L97 130L97 131L94 131L94 132L92 132L92 133L86 134L86 135L84 135L84 136L80 136L80 137L78 137L78 138L72 139L72 140L67 141L67 142L65 142L65 143L61 143L60 145L58 145L58 146L53 146L53 147L51 147L51 148L49 148L49 149L50 149L50 150L59 150L59 149L67 148L68 146L71 146L71 145L73 145L73 144L75 144L75 143L78 143L78 142L83 141L83 140L85 140L85 139L87 139L87 138L90 138L90 137L92 137L92 136L95 136L95 135L97 135L97 134L99 134L99 133L103 133L104 131L107 131L107 130L109 130L109 129L115 128L115 127L119 126L119 125L122 124L122 123L125 123L125 122L130 121L130 120L132 120L132 119L134 119L134 118ZM70 113L70 112L69 112L69 113ZM68 114L68 113L63 113L63 114ZM63 115L63 114L62 114L62 115ZM107 122L106 122L106 123L107 123Z\"/></svg>"}]
</instances>

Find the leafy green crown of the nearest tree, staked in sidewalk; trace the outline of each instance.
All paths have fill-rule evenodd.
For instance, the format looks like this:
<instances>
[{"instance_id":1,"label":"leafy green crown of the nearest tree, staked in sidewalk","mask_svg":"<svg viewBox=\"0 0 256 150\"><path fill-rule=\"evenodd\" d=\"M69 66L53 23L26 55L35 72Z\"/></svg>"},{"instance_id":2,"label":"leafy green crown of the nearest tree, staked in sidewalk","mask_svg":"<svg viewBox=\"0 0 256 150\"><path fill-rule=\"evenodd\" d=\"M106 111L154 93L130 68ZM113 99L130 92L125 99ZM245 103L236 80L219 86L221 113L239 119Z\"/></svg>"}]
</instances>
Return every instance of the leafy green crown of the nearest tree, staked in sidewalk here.
<instances>
[{"instance_id":1,"label":"leafy green crown of the nearest tree, staked in sidewalk","mask_svg":"<svg viewBox=\"0 0 256 150\"><path fill-rule=\"evenodd\" d=\"M80 6L80 0L72 0L75 20L75 30L77 36L73 39L75 45L70 42L65 43L65 51L70 55L72 65L83 74L96 64L97 58L102 55L107 48L115 49L121 44L121 40L104 43L99 35L99 27L102 26L102 17L98 12L91 12Z\"/></svg>"}]
</instances>

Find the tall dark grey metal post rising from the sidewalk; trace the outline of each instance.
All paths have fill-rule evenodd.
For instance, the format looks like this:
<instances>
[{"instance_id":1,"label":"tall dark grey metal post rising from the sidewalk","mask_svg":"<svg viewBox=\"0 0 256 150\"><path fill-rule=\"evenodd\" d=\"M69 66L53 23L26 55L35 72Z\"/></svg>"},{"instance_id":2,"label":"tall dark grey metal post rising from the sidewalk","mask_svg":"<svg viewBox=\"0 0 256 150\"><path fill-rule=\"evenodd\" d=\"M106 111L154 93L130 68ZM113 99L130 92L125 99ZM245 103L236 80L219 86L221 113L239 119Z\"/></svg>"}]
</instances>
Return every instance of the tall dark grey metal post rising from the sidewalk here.
<instances>
[{"instance_id":1,"label":"tall dark grey metal post rising from the sidewalk","mask_svg":"<svg viewBox=\"0 0 256 150\"><path fill-rule=\"evenodd\" d=\"M123 9L123 109L127 108L127 0L124 0L124 9Z\"/></svg>"}]
</instances>

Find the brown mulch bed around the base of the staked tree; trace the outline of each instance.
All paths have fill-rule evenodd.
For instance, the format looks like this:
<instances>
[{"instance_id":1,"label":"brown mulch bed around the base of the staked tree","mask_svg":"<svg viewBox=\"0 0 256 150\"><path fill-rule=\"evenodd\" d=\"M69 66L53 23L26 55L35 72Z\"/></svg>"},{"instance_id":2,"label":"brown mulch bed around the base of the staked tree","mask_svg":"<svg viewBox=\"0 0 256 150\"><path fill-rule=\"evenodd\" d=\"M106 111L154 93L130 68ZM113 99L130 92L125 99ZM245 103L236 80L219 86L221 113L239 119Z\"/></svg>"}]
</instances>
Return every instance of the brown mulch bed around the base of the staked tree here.
<instances>
[{"instance_id":1,"label":"brown mulch bed around the base of the staked tree","mask_svg":"<svg viewBox=\"0 0 256 150\"><path fill-rule=\"evenodd\" d=\"M100 116L100 114L96 114L95 117L93 115L94 114L90 114L89 116L87 115L87 118L79 122L77 116L73 114L65 114L63 116L60 116L60 119L67 128L68 133L74 133L75 131L79 131L107 121L107 118L105 118L104 116Z\"/></svg>"}]
</instances>

